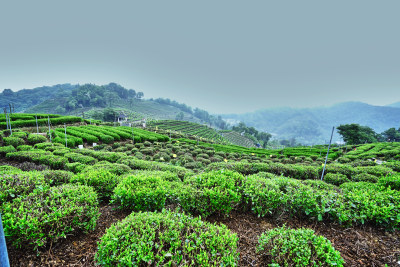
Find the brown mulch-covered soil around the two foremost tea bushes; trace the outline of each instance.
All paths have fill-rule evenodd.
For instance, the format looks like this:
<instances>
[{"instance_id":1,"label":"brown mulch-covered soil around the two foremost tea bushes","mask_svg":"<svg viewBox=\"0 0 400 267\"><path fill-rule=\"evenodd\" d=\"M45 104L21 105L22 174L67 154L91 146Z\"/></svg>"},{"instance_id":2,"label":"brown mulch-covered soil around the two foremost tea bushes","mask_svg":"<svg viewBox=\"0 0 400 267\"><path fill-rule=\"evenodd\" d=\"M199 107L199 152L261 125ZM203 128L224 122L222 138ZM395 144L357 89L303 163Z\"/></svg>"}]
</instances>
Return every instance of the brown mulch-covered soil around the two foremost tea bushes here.
<instances>
[{"instance_id":1,"label":"brown mulch-covered soil around the two foremost tea bushes","mask_svg":"<svg viewBox=\"0 0 400 267\"><path fill-rule=\"evenodd\" d=\"M51 244L40 255L29 249L8 246L11 266L96 266L94 255L97 242L111 224L130 212L110 205L100 207L101 216L96 229L90 233L77 233ZM256 253L258 237L262 232L283 224L292 228L306 227L328 238L340 251L345 266L399 266L400 231L386 232L372 226L344 228L334 223L312 222L298 218L258 218L250 213L234 211L229 217L212 216L212 223L223 223L239 237L239 266L265 266L263 257Z\"/></svg>"}]
</instances>

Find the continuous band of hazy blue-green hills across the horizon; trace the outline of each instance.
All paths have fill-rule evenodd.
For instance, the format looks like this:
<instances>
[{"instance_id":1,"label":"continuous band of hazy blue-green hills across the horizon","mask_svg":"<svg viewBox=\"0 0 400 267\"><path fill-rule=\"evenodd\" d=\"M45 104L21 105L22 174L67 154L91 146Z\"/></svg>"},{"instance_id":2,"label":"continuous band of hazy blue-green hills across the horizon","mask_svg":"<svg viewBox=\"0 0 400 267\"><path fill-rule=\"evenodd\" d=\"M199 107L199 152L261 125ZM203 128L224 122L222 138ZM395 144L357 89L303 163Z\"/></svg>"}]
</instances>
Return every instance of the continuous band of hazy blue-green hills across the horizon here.
<instances>
[{"instance_id":1,"label":"continuous band of hazy blue-green hills across the horizon","mask_svg":"<svg viewBox=\"0 0 400 267\"><path fill-rule=\"evenodd\" d=\"M15 112L57 113L95 117L98 112L113 108L128 112L137 119L181 119L213 124L224 128L218 116L207 111L193 109L185 104L166 99L141 99L143 93L110 83L59 84L13 92L9 89L0 94L0 107L15 106ZM400 102L388 106L373 106L362 102L344 102L329 107L316 108L269 108L244 114L225 114L221 117L230 122L243 121L247 126L273 134L276 139L295 138L302 144L320 144L329 140L332 126L358 123L381 133L391 127L400 127ZM336 133L334 141L340 140Z\"/></svg>"}]
</instances>

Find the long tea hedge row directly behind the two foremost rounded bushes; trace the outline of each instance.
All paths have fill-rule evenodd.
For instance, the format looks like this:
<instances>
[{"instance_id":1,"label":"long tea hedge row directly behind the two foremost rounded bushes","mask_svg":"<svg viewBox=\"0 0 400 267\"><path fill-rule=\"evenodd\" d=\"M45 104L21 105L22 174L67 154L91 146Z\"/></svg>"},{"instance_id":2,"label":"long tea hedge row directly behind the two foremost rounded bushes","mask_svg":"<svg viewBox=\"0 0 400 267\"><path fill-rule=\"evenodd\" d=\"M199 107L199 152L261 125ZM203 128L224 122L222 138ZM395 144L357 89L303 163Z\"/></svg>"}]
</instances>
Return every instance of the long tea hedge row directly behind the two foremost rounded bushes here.
<instances>
[{"instance_id":1,"label":"long tea hedge row directly behind the two foremost rounded bushes","mask_svg":"<svg viewBox=\"0 0 400 267\"><path fill-rule=\"evenodd\" d=\"M399 227L399 191L371 183L366 183L371 185L368 190L358 189L363 183L346 184L340 190L322 181L262 173L244 177L229 170L187 174L182 183L160 175L131 174L117 185L112 199L121 208L135 211L157 211L175 204L208 216L247 207L259 216L287 213L346 225L369 222L389 229Z\"/></svg>"}]
</instances>

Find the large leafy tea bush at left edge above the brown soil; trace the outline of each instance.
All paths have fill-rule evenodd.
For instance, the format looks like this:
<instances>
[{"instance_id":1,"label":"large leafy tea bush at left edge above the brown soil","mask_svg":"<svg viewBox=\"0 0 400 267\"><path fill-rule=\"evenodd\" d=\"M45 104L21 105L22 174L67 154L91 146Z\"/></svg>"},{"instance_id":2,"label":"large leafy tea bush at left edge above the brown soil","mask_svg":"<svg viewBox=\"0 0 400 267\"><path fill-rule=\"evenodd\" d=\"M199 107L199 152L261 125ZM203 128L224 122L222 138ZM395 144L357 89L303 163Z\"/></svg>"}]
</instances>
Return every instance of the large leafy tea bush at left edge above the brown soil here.
<instances>
[{"instance_id":1,"label":"large leafy tea bush at left edge above the brown soil","mask_svg":"<svg viewBox=\"0 0 400 267\"><path fill-rule=\"evenodd\" d=\"M91 187L66 184L37 191L3 206L5 235L17 246L35 249L73 231L93 230L99 217Z\"/></svg>"}]
</instances>

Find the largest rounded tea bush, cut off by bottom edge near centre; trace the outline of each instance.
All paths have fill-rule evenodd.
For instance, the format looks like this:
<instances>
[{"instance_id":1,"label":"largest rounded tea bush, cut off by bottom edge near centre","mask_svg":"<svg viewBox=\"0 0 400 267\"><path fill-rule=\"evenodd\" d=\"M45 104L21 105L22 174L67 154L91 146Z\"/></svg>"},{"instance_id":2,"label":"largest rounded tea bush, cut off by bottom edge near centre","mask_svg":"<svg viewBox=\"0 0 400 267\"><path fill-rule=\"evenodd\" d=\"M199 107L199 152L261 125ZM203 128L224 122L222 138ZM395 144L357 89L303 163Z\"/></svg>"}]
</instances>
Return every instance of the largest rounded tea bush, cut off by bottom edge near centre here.
<instances>
[{"instance_id":1,"label":"largest rounded tea bush, cut off by bottom edge near centre","mask_svg":"<svg viewBox=\"0 0 400 267\"><path fill-rule=\"evenodd\" d=\"M101 266L237 266L229 229L182 213L132 213L107 229L95 259Z\"/></svg>"}]
</instances>

